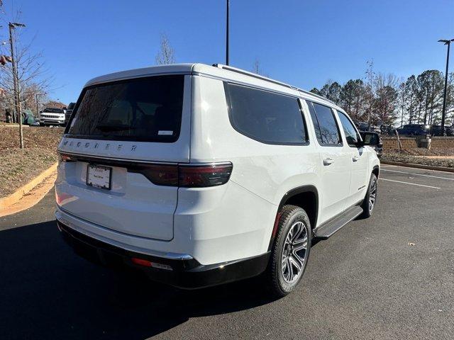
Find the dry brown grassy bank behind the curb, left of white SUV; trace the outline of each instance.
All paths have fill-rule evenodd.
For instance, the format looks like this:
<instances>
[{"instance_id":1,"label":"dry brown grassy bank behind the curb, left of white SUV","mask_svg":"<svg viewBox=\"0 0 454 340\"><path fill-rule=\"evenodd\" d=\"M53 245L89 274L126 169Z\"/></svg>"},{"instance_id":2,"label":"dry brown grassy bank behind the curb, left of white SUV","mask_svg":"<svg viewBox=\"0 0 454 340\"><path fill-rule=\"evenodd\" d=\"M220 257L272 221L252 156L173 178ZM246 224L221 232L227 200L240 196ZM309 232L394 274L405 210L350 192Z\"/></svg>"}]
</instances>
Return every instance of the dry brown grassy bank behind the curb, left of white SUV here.
<instances>
[{"instance_id":1,"label":"dry brown grassy bank behind the curb, left of white SUV","mask_svg":"<svg viewBox=\"0 0 454 340\"><path fill-rule=\"evenodd\" d=\"M0 197L8 196L57 162L63 128L23 128L19 148L18 126L0 125Z\"/></svg>"}]
</instances>

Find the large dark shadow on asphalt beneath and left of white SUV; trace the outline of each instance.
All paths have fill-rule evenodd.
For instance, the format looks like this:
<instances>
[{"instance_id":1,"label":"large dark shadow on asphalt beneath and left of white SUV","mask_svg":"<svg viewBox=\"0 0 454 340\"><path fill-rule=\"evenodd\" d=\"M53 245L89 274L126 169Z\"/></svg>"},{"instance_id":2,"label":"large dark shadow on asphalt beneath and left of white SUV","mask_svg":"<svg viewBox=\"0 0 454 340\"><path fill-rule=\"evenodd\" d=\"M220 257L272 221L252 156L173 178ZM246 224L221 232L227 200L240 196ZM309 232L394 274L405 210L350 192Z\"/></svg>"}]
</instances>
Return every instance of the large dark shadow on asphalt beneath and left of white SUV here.
<instances>
[{"instance_id":1,"label":"large dark shadow on asphalt beneath and left of white SUV","mask_svg":"<svg viewBox=\"0 0 454 340\"><path fill-rule=\"evenodd\" d=\"M178 290L79 258L55 222L0 232L1 339L145 339L272 302L257 279Z\"/></svg>"}]
</instances>

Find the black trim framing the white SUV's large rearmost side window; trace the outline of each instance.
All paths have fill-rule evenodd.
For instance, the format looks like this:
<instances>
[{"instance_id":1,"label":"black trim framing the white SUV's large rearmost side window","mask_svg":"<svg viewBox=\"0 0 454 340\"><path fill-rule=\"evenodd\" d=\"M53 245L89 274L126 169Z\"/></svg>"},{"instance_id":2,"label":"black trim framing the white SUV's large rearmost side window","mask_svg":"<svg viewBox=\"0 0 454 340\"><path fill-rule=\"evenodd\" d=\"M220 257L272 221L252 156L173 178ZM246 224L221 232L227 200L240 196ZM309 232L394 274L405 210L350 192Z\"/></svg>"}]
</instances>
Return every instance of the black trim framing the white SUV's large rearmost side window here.
<instances>
[{"instance_id":1,"label":"black trim framing the white SUV's large rearmost side window","mask_svg":"<svg viewBox=\"0 0 454 340\"><path fill-rule=\"evenodd\" d=\"M234 84L237 86L243 86L243 87L248 87L249 89L255 89L258 91L264 91L264 92L270 92L272 94L277 94L279 96L287 96L290 98L293 98L294 100L297 101L298 107L299 107L299 113L301 114L301 119L303 120L303 125L304 125L304 134L306 135L306 142L270 142L267 140L260 140L259 138L248 134L247 132L244 132L242 130L239 130L236 125L233 123L233 118L232 118L232 112L231 112L231 96L230 96L230 91L228 91L228 84ZM309 138L309 133L307 130L307 122L306 122L306 117L304 115L303 108L301 106L301 97L299 96L292 96L291 94L284 94L279 91L272 91L270 89L263 89L257 86L250 86L250 85L245 85L245 84L240 84L236 81L223 81L223 88L224 88L224 93L226 94L226 101L227 101L227 111L228 111L228 120L230 121L230 125L236 132L240 133L241 135L250 138L251 140L255 140L256 142L260 142L262 144L267 144L267 145L285 145L285 146L307 146L311 144L310 138Z\"/></svg>"}]
</instances>

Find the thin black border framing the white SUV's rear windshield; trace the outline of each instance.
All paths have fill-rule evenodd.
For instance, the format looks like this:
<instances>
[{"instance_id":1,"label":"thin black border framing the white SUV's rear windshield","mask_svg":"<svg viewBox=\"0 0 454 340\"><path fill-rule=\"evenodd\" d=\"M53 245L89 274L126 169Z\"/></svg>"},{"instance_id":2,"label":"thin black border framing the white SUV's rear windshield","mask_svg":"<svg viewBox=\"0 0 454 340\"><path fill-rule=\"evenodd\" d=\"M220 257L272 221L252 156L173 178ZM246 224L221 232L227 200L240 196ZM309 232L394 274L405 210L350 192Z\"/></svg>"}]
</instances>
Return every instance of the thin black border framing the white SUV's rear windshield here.
<instances>
[{"instance_id":1,"label":"thin black border framing the white SUV's rear windshield","mask_svg":"<svg viewBox=\"0 0 454 340\"><path fill-rule=\"evenodd\" d=\"M74 119L74 115L77 114L77 110L79 109L80 103L82 102L82 99L84 98L85 93L89 89L93 89L95 87L103 86L103 85L116 85L116 84L124 84L128 82L132 82L135 80L143 80L143 79L150 79L150 78L156 78L156 77L172 77L172 76L183 76L183 91L184 91L184 83L186 81L186 78L184 76L187 76L187 73L181 72L181 73L169 73L169 74L152 74L152 75L146 75L143 77L131 77L131 78L126 78L126 79L118 79L118 80L112 80L112 81L101 81L99 83L94 83L92 85L86 86L82 89L79 98L77 98L76 105L74 105L74 108L72 108L72 112L70 115L70 119L68 120L66 126L65 126L65 131L63 132L62 137L67 137L67 138L78 138L80 140L112 140L112 141L117 141L117 142L148 142L148 143L166 143L166 144L175 144L179 141L179 136L181 135L181 129L182 129L182 123L183 123L183 112L184 112L184 92L183 92L183 103L182 103L182 120L180 123L179 127L179 132L177 135L177 139L172 142L168 141L160 141L160 142L155 142L155 141L150 141L147 140L146 138L137 138L137 137L132 137L132 138L127 138L126 136L122 137L96 137L96 136L89 136L89 135L72 135L69 133L72 120Z\"/></svg>"}]
</instances>

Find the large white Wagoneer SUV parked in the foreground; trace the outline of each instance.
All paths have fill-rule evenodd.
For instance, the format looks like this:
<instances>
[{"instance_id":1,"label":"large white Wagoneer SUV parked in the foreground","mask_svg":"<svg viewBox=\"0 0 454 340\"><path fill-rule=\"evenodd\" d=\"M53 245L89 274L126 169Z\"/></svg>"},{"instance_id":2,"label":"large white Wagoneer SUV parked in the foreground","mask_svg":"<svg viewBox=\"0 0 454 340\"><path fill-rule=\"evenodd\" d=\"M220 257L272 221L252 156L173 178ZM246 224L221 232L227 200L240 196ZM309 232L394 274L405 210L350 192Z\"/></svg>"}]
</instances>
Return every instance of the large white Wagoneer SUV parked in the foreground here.
<instances>
[{"instance_id":1,"label":"large white Wagoneer SUV parked in the foreground","mask_svg":"<svg viewBox=\"0 0 454 340\"><path fill-rule=\"evenodd\" d=\"M219 64L92 79L58 151L55 215L78 254L182 288L265 273L281 296L311 239L371 215L380 171L338 106Z\"/></svg>"}]
</instances>

